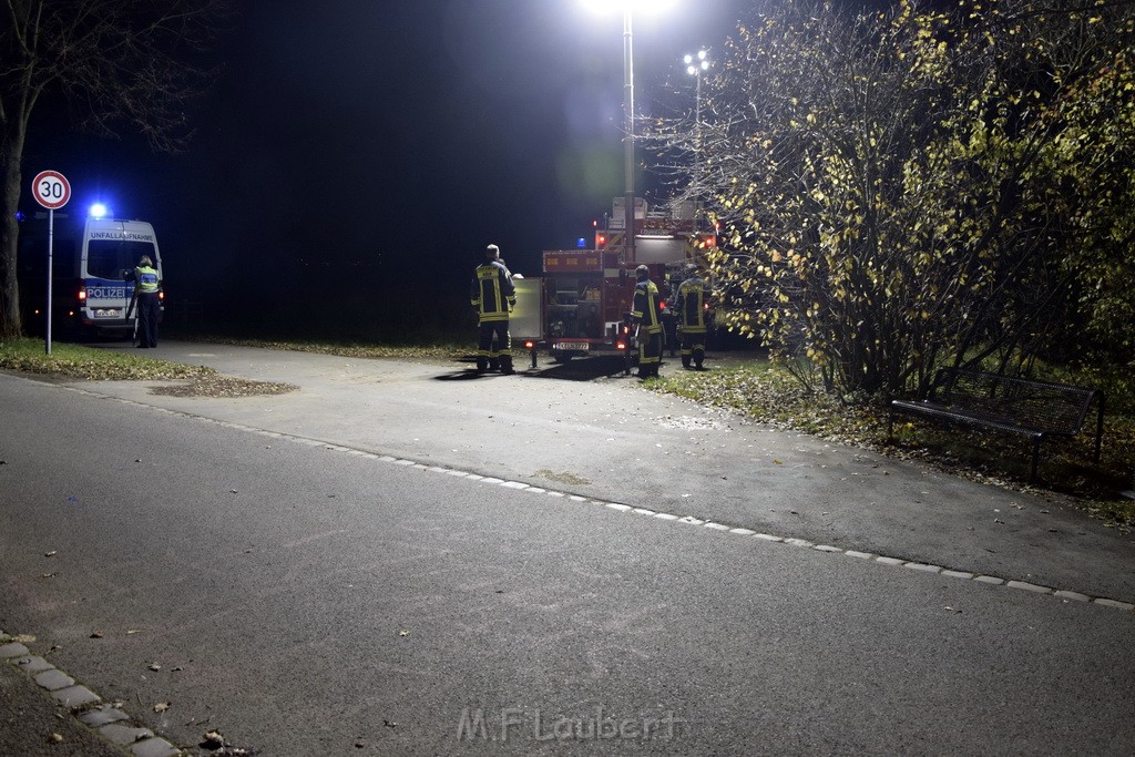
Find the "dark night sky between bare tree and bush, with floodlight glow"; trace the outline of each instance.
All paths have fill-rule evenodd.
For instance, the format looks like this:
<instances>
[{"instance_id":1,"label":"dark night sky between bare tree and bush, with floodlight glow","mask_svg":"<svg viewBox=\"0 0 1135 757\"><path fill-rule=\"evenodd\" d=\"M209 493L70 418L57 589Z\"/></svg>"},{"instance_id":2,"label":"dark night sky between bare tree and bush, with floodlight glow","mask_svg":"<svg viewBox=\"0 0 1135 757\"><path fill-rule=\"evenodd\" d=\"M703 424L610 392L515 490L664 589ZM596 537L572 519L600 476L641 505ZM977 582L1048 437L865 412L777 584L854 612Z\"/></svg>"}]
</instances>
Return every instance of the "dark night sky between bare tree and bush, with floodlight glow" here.
<instances>
[{"instance_id":1,"label":"dark night sky between bare tree and bush, with floodlight glow","mask_svg":"<svg viewBox=\"0 0 1135 757\"><path fill-rule=\"evenodd\" d=\"M634 15L637 110L692 78L759 0ZM151 220L171 293L293 306L409 279L464 298L489 242L514 271L589 236L621 194L622 18L581 0L239 0L188 152L35 121L24 173ZM615 3L608 3L615 5ZM42 135L51 135L49 140ZM320 295L322 296L322 295ZM352 296L364 297L363 292ZM269 305L267 303L275 303ZM318 304L318 303L317 303Z\"/></svg>"}]
</instances>

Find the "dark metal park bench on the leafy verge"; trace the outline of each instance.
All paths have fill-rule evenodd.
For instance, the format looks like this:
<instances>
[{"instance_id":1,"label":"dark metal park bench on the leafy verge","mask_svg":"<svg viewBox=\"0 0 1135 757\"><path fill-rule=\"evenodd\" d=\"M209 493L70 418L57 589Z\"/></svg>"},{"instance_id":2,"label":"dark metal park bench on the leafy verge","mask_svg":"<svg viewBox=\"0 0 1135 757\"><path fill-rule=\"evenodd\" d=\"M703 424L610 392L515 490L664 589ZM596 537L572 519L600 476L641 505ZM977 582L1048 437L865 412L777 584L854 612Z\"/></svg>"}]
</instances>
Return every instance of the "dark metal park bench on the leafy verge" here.
<instances>
[{"instance_id":1,"label":"dark metal park bench on the leafy verge","mask_svg":"<svg viewBox=\"0 0 1135 757\"><path fill-rule=\"evenodd\" d=\"M1050 436L1078 435L1093 403L1099 406L1095 427L1098 465L1103 438L1102 392L960 368L940 368L926 399L892 399L886 438L893 438L897 413L1024 434L1033 439L1033 466L1028 480L1035 481L1041 441Z\"/></svg>"}]
</instances>

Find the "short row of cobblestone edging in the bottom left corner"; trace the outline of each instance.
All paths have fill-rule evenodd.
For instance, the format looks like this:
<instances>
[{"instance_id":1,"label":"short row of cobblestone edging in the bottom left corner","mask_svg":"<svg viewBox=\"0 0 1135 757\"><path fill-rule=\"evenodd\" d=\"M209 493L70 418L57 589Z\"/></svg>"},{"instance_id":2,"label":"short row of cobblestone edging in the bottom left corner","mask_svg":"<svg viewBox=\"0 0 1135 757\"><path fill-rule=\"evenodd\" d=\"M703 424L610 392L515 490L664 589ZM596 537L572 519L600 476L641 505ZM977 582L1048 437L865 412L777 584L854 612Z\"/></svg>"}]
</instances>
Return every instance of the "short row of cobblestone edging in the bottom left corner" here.
<instances>
[{"instance_id":1,"label":"short row of cobblestone edging in the bottom left corner","mask_svg":"<svg viewBox=\"0 0 1135 757\"><path fill-rule=\"evenodd\" d=\"M33 655L19 641L6 641L12 637L0 631L0 664L8 664L26 673L37 685L45 689L59 704L89 729L100 733L111 743L123 748L124 754L134 757L182 757L184 751L146 727L138 727L129 715L118 707L104 703L102 697L85 685L77 683L43 657Z\"/></svg>"}]
</instances>

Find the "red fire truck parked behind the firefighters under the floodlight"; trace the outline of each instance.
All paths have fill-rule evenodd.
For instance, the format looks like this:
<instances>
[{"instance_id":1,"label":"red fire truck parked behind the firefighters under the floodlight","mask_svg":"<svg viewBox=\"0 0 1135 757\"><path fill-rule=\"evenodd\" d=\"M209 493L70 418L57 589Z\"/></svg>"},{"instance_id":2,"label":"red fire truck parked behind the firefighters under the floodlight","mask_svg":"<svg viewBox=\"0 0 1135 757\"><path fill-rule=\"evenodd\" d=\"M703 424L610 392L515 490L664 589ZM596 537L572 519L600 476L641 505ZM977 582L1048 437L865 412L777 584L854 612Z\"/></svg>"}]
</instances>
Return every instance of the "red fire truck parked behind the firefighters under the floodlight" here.
<instances>
[{"instance_id":1,"label":"red fire truck parked behind the firefighters under the floodlight","mask_svg":"<svg viewBox=\"0 0 1135 757\"><path fill-rule=\"evenodd\" d=\"M539 351L556 362L622 354L629 373L636 346L630 317L634 269L640 264L650 269L650 279L666 303L686 277L686 264L704 262L704 251L717 244L715 233L698 230L692 202L651 209L638 200L634 243L628 245L622 203L616 197L612 213L602 224L595 222L592 247L545 251L543 275L516 279L513 343L529 350L532 368ZM665 304L663 320L673 346L674 319Z\"/></svg>"}]
</instances>

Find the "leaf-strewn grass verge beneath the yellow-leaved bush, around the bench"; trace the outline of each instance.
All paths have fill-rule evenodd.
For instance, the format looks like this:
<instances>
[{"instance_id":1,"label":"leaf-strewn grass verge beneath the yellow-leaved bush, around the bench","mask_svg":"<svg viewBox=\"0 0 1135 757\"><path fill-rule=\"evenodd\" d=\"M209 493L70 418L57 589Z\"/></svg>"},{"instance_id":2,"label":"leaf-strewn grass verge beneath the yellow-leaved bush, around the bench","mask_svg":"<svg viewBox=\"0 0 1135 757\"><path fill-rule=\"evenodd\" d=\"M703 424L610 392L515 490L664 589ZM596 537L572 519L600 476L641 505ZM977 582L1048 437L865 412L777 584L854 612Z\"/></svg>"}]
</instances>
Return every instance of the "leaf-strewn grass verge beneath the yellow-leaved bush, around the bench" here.
<instances>
[{"instance_id":1,"label":"leaf-strewn grass verge beneath the yellow-leaved bush, around the bench","mask_svg":"<svg viewBox=\"0 0 1135 757\"><path fill-rule=\"evenodd\" d=\"M1074 379L1066 379L1075 382ZM801 431L831 441L873 449L892 457L917 459L951 473L1015 489L1029 486L1029 441L1008 434L928 421L900 420L893 443L886 439L886 409L865 401L807 394L783 369L767 360L705 372L682 371L650 381L655 392L675 394L698 404L738 413L754 422ZM1092 462L1094 436L1088 429L1075 439L1053 439L1041 446L1040 477L1044 488L1070 496L1078 506L1109 525L1135 525L1135 501L1118 491L1135 486L1135 415L1129 398L1109 397L1100 465Z\"/></svg>"}]
</instances>

